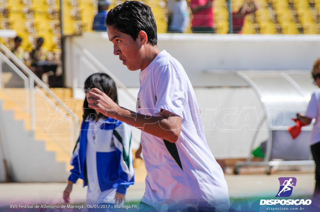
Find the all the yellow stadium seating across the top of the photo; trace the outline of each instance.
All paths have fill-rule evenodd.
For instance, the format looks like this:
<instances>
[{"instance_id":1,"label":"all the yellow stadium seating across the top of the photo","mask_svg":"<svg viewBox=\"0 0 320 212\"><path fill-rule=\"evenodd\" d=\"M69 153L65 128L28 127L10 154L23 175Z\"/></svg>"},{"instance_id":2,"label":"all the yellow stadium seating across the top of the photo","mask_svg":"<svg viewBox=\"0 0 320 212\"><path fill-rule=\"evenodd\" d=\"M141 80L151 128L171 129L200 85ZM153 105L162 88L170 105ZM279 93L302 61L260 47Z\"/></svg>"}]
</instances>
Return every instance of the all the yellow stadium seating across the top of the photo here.
<instances>
[{"instance_id":1,"label":"all the yellow stadium seating across the top of the photo","mask_svg":"<svg viewBox=\"0 0 320 212\"><path fill-rule=\"evenodd\" d=\"M98 0L62 2L64 35L92 31L92 20L97 13ZM124 0L112 0L112 2L109 8ZM158 33L165 33L167 28L165 0L141 0L141 2L152 8ZM244 0L232 0L233 10L239 9L243 2ZM255 15L246 16L243 34L319 33L320 0L256 0L256 2L260 9ZM226 0L214 0L213 5L217 33L226 34L229 28ZM24 40L22 42L24 49L31 49L35 39L40 36L44 37L44 47L47 49L60 49L59 0L2 0L0 9L0 28L16 30ZM191 32L190 26L187 32Z\"/></svg>"}]
</instances>

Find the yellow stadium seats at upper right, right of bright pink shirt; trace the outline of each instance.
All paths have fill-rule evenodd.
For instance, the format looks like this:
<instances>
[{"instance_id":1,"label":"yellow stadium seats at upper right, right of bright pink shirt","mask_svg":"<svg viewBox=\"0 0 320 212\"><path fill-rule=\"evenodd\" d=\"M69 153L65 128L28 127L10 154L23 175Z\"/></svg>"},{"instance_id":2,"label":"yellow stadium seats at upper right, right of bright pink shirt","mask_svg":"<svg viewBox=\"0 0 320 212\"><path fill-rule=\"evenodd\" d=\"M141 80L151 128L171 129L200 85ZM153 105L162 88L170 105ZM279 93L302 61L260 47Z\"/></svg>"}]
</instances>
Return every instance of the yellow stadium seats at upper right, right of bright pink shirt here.
<instances>
[{"instance_id":1,"label":"yellow stadium seats at upper right, right of bright pink shirt","mask_svg":"<svg viewBox=\"0 0 320 212\"><path fill-rule=\"evenodd\" d=\"M250 2L251 0L248 0ZM232 0L233 11L244 0ZM244 20L243 34L318 34L320 0L256 0L260 9ZM311 7L311 5L314 7ZM293 5L294 10L290 9ZM227 33L228 9L225 0L214 1L215 23L218 33ZM252 19L256 20L253 21Z\"/></svg>"}]
</instances>

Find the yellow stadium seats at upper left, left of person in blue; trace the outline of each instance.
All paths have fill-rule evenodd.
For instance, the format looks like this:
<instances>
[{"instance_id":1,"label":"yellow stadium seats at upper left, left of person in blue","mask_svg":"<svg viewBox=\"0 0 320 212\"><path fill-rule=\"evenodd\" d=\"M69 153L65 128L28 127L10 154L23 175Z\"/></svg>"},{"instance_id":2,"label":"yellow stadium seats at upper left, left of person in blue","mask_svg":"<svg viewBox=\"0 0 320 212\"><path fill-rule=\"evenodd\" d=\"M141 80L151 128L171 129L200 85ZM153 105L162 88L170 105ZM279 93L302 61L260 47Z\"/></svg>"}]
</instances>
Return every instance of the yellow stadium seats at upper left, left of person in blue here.
<instances>
[{"instance_id":1,"label":"yellow stadium seats at upper left, left of person in blue","mask_svg":"<svg viewBox=\"0 0 320 212\"><path fill-rule=\"evenodd\" d=\"M97 12L96 0L64 0L63 34L80 34L90 31ZM14 29L22 37L22 47L31 50L37 37L44 37L44 47L60 49L59 0L2 0L0 28ZM5 43L4 40L2 42ZM8 43L5 43L8 44Z\"/></svg>"}]
</instances>

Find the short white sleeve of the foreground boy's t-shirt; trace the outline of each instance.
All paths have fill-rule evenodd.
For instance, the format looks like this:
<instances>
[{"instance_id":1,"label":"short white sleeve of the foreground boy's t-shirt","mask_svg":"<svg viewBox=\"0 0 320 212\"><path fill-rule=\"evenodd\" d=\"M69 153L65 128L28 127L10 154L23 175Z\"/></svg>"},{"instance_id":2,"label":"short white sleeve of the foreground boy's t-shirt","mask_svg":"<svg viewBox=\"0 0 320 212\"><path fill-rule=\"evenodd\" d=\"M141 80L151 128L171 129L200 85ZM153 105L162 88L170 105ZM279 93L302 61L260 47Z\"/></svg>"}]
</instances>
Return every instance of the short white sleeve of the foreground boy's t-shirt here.
<instances>
[{"instance_id":1,"label":"short white sleeve of the foreground boy's t-shirt","mask_svg":"<svg viewBox=\"0 0 320 212\"><path fill-rule=\"evenodd\" d=\"M154 82L156 88L156 106L154 115L159 115L160 110L168 110L183 118L183 101L185 86L178 67L171 64L164 65L155 72Z\"/></svg>"}]
</instances>

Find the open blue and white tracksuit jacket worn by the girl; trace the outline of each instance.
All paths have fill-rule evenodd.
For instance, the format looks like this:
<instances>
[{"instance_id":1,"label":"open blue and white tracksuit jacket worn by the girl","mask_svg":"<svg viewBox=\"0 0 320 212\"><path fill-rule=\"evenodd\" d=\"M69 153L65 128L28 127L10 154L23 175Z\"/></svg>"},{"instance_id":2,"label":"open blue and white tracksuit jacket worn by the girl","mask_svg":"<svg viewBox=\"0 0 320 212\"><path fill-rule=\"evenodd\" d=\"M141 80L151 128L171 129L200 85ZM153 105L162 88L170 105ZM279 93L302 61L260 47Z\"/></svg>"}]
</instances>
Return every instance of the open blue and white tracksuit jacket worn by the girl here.
<instances>
[{"instance_id":1,"label":"open blue and white tracksuit jacket worn by the girl","mask_svg":"<svg viewBox=\"0 0 320 212\"><path fill-rule=\"evenodd\" d=\"M82 122L79 139L73 150L68 180L76 183L84 180L88 185L86 148L89 120ZM129 185L134 183L134 170L131 149L131 127L123 122L107 117L100 129L97 129L97 172L101 192L117 188L116 192L126 193ZM103 139L101 139L103 138Z\"/></svg>"}]
</instances>

